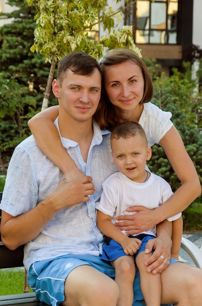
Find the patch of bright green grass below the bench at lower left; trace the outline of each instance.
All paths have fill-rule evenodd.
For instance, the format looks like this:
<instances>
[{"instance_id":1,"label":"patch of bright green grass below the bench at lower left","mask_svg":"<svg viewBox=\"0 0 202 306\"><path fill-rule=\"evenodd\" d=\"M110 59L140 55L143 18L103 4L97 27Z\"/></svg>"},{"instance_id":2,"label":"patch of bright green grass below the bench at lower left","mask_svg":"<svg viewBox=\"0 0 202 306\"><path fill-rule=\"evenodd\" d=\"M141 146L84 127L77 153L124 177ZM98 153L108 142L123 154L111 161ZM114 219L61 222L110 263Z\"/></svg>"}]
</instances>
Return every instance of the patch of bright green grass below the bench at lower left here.
<instances>
[{"instance_id":1,"label":"patch of bright green grass below the bench at lower left","mask_svg":"<svg viewBox=\"0 0 202 306\"><path fill-rule=\"evenodd\" d=\"M0 270L0 295L23 293L24 270L8 269ZM30 289L30 292L32 290Z\"/></svg>"}]
</instances>

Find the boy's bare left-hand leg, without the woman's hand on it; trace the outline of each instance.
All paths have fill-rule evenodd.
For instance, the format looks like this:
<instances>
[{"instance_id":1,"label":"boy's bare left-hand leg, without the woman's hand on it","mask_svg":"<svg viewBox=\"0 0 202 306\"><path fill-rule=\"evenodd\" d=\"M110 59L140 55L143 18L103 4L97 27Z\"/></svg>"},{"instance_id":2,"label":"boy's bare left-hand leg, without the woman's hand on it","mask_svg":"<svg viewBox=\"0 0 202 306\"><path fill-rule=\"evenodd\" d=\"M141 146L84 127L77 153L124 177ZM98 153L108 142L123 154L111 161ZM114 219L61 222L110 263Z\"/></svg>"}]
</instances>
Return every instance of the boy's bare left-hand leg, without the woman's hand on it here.
<instances>
[{"instance_id":1,"label":"boy's bare left-hand leg, without the woman's hand on it","mask_svg":"<svg viewBox=\"0 0 202 306\"><path fill-rule=\"evenodd\" d=\"M115 282L118 285L120 292L117 306L132 306L134 298L133 282L135 278L134 257L119 257L115 261L111 262L111 265L115 268Z\"/></svg>"}]
</instances>

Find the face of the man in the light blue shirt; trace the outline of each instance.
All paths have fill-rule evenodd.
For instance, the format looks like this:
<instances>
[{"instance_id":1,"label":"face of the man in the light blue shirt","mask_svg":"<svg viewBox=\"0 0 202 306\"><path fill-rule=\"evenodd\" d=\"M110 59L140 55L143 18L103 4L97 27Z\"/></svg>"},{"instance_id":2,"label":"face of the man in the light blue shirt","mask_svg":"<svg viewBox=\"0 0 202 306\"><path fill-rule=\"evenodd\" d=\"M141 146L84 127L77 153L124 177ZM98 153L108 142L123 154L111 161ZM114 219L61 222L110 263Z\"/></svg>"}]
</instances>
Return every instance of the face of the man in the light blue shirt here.
<instances>
[{"instance_id":1,"label":"face of the man in the light blue shirt","mask_svg":"<svg viewBox=\"0 0 202 306\"><path fill-rule=\"evenodd\" d=\"M78 122L92 120L100 100L100 72L95 69L92 75L83 76L68 69L62 86L54 80L53 92L59 101L60 115Z\"/></svg>"}]
</instances>

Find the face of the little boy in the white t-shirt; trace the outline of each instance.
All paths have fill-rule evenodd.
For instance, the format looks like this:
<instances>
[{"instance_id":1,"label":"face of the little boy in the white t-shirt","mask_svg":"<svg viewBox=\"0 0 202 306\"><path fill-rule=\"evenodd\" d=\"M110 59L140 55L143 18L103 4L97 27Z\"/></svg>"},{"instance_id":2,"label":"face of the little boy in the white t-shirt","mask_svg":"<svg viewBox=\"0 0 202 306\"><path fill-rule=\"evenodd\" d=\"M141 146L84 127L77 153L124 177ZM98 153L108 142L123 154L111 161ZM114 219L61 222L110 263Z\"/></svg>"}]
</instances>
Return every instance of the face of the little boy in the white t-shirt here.
<instances>
[{"instance_id":1,"label":"face of the little boy in the white t-shirt","mask_svg":"<svg viewBox=\"0 0 202 306\"><path fill-rule=\"evenodd\" d=\"M151 148L140 135L111 140L113 161L118 170L129 179L143 183L146 178L145 166L151 158Z\"/></svg>"}]
</instances>

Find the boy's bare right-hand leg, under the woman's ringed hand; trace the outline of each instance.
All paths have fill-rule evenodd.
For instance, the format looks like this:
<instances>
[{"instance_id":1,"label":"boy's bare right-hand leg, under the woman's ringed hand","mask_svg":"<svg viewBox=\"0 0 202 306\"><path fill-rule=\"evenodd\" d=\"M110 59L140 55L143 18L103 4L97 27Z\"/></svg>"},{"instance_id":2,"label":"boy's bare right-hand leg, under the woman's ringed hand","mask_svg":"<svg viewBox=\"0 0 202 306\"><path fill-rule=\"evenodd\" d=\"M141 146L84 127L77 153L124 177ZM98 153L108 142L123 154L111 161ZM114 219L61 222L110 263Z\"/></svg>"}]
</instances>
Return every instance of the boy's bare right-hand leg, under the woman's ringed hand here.
<instances>
[{"instance_id":1,"label":"boy's bare right-hand leg, under the woman's ringed hand","mask_svg":"<svg viewBox=\"0 0 202 306\"><path fill-rule=\"evenodd\" d=\"M140 272L140 287L146 305L160 306L162 294L161 274L153 275L148 273L147 266L144 264L150 256L151 254L140 252L135 258L135 262Z\"/></svg>"}]
</instances>

